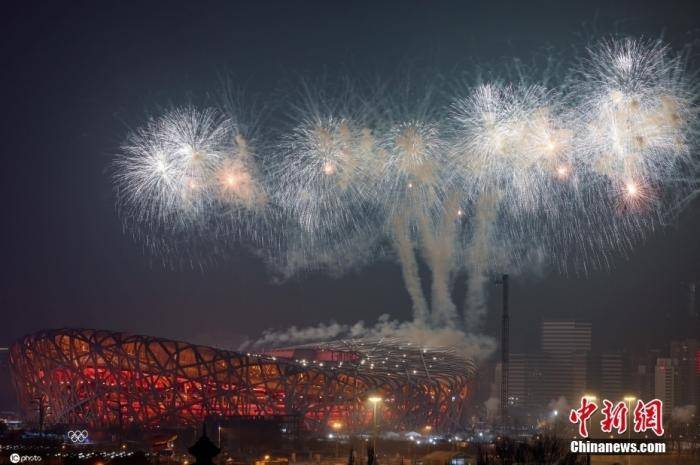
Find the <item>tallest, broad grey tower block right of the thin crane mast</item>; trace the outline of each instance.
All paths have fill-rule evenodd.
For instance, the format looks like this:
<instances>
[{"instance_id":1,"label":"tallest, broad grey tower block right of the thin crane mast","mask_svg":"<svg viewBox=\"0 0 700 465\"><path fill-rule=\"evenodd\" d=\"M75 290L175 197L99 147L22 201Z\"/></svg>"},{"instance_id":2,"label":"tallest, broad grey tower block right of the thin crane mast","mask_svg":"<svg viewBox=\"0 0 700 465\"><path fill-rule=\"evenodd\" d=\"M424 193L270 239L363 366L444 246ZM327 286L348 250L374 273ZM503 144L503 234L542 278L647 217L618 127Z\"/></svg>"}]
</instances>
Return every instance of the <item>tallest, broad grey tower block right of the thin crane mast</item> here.
<instances>
[{"instance_id":1,"label":"tallest, broad grey tower block right of the thin crane mast","mask_svg":"<svg viewBox=\"0 0 700 465\"><path fill-rule=\"evenodd\" d=\"M574 401L586 391L591 332L590 323L542 322L542 394L545 399L564 396Z\"/></svg>"}]
</instances>

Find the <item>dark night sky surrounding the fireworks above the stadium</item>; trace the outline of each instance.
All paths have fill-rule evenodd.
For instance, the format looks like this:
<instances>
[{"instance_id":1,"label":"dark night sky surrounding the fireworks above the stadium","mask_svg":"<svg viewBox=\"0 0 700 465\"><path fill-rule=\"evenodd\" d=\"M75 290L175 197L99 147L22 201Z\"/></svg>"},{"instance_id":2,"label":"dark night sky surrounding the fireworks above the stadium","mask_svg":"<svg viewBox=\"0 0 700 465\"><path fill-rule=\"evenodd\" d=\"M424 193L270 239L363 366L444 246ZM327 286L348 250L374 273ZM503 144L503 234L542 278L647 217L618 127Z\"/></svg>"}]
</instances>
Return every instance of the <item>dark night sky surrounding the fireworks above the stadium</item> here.
<instances>
[{"instance_id":1,"label":"dark night sky surrounding the fireworks above the stadium","mask_svg":"<svg viewBox=\"0 0 700 465\"><path fill-rule=\"evenodd\" d=\"M295 76L382 76L414 62L449 74L548 48L566 55L614 32L681 46L697 40L700 19L700 2L639 0L18 2L4 10L0 345L74 326L230 347L269 327L409 318L393 263L280 285L243 249L204 271L170 269L124 233L108 169L119 144L160 108L214 99L223 77L264 100ZM611 270L514 277L514 349L537 348L542 317L591 321L594 345L606 350L665 347L696 330L687 288L700 279L699 213L696 202Z\"/></svg>"}]
</instances>

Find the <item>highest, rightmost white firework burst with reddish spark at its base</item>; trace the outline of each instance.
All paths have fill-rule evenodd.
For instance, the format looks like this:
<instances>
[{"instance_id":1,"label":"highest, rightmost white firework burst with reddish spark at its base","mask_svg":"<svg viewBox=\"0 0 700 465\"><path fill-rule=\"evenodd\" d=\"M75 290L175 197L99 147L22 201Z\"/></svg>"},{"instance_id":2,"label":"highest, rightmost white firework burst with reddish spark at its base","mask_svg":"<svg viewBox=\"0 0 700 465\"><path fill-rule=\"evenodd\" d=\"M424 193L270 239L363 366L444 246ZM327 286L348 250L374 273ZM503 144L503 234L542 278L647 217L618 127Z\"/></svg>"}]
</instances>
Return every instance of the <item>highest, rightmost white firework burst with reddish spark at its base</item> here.
<instances>
[{"instance_id":1,"label":"highest, rightmost white firework burst with reddish spark at its base","mask_svg":"<svg viewBox=\"0 0 700 465\"><path fill-rule=\"evenodd\" d=\"M588 53L573 85L577 156L635 202L687 166L696 95L683 60L659 42L607 41Z\"/></svg>"}]
</instances>

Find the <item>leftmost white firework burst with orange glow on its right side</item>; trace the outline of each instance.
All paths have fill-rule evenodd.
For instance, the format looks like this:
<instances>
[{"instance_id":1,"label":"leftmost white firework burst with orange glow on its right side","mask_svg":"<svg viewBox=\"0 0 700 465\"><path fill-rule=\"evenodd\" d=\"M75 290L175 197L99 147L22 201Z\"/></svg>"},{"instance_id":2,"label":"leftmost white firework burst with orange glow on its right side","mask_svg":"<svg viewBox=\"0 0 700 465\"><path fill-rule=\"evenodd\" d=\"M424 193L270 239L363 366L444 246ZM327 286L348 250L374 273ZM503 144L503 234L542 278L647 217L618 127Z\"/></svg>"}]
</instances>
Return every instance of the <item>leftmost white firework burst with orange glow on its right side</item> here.
<instances>
[{"instance_id":1,"label":"leftmost white firework burst with orange glow on its right side","mask_svg":"<svg viewBox=\"0 0 700 465\"><path fill-rule=\"evenodd\" d=\"M176 108L149 121L115 163L119 208L151 241L219 237L266 204L250 147L219 110Z\"/></svg>"}]
</instances>

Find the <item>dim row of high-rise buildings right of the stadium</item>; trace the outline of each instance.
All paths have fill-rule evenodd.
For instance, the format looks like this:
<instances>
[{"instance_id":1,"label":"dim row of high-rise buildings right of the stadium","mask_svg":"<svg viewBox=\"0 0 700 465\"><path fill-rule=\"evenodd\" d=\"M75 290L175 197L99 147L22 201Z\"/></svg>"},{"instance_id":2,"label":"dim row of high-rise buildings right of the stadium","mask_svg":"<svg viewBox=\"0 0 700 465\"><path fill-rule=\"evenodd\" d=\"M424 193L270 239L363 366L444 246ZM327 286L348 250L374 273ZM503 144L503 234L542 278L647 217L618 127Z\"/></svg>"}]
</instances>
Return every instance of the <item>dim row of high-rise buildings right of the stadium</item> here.
<instances>
[{"instance_id":1,"label":"dim row of high-rise buildings right of the stadium","mask_svg":"<svg viewBox=\"0 0 700 465\"><path fill-rule=\"evenodd\" d=\"M657 339L658 348L651 351L606 351L592 343L595 326L591 323L543 319L540 328L540 349L510 355L508 384L514 416L546 415L560 398L573 405L585 394L610 400L658 398L669 416L674 408L700 408L697 337ZM500 391L501 379L500 362L493 364L491 396Z\"/></svg>"}]
</instances>

